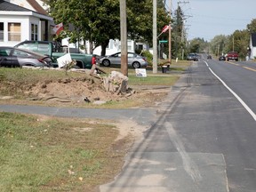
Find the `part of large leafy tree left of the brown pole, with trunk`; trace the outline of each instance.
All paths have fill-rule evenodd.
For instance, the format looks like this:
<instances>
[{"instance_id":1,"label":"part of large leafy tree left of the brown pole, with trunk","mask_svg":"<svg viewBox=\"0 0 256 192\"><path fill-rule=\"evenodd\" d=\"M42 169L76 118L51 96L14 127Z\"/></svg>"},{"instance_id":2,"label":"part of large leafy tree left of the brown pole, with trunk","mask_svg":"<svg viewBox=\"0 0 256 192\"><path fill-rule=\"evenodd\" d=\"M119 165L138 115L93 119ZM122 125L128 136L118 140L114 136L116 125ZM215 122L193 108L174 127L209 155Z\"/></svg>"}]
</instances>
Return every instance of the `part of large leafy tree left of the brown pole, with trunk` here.
<instances>
[{"instance_id":1,"label":"part of large leafy tree left of the brown pole, with trunk","mask_svg":"<svg viewBox=\"0 0 256 192\"><path fill-rule=\"evenodd\" d=\"M64 26L72 23L76 30L68 32L71 42L84 39L102 46L105 54L109 39L120 37L120 16L118 0L47 0L49 12Z\"/></svg>"}]
</instances>

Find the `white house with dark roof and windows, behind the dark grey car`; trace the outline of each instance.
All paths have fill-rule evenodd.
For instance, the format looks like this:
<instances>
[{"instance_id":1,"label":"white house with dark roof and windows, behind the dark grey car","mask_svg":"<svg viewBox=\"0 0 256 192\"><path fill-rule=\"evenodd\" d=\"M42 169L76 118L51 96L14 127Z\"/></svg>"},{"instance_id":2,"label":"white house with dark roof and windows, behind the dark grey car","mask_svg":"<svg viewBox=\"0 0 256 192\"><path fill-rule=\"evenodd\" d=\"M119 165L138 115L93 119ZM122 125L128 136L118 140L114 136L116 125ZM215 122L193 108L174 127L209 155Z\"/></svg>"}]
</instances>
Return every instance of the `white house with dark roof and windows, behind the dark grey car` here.
<instances>
[{"instance_id":1,"label":"white house with dark roof and windows, behind the dark grey car","mask_svg":"<svg viewBox=\"0 0 256 192\"><path fill-rule=\"evenodd\" d=\"M40 4L31 0L12 2L24 6L30 2L29 8L33 10L0 0L0 45L14 46L25 40L51 39L54 22Z\"/></svg>"}]
</instances>

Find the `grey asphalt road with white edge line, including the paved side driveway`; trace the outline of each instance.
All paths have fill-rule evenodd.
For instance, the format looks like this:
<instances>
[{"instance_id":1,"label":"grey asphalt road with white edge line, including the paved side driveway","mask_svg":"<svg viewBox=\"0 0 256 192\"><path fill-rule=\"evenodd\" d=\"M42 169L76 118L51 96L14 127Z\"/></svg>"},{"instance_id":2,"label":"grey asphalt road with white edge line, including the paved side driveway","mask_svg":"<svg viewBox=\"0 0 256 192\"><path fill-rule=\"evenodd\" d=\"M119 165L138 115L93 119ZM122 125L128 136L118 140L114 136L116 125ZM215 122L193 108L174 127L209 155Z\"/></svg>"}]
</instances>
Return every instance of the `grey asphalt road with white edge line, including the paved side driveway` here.
<instances>
[{"instance_id":1,"label":"grey asphalt road with white edge line, including the paved side driveway","mask_svg":"<svg viewBox=\"0 0 256 192\"><path fill-rule=\"evenodd\" d=\"M148 126L126 157L123 171L100 186L100 192L252 192L256 191L256 72L250 65L204 58L193 62L156 109L1 105L0 111L120 117Z\"/></svg>"}]
</instances>

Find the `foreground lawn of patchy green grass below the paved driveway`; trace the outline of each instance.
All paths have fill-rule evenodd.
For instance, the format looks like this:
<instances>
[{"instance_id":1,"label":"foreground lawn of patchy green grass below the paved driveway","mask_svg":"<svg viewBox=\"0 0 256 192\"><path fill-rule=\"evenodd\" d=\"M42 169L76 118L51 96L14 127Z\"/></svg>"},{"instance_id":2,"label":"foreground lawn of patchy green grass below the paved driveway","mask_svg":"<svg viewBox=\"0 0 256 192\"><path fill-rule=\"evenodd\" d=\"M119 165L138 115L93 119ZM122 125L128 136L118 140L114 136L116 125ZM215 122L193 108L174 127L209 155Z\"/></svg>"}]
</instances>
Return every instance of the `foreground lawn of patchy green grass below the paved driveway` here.
<instances>
[{"instance_id":1,"label":"foreground lawn of patchy green grass below the paved driveway","mask_svg":"<svg viewBox=\"0 0 256 192\"><path fill-rule=\"evenodd\" d=\"M123 164L117 134L84 119L0 113L0 191L90 191Z\"/></svg>"}]
</instances>

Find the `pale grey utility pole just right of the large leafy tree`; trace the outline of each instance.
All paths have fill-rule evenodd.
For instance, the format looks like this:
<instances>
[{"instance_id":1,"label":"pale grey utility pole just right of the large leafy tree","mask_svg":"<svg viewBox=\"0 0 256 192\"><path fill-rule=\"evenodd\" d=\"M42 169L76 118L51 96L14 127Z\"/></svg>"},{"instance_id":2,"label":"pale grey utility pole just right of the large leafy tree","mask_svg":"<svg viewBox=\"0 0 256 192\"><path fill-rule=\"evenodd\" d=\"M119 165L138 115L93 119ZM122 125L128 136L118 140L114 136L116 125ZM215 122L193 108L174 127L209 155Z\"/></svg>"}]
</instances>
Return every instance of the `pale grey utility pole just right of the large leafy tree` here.
<instances>
[{"instance_id":1,"label":"pale grey utility pole just right of the large leafy tree","mask_svg":"<svg viewBox=\"0 0 256 192\"><path fill-rule=\"evenodd\" d=\"M120 0L121 2L122 0ZM157 24L156 24L156 0L153 0L153 74L157 73Z\"/></svg>"}]
</instances>

